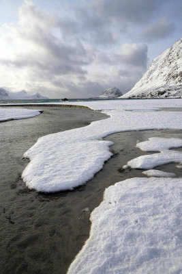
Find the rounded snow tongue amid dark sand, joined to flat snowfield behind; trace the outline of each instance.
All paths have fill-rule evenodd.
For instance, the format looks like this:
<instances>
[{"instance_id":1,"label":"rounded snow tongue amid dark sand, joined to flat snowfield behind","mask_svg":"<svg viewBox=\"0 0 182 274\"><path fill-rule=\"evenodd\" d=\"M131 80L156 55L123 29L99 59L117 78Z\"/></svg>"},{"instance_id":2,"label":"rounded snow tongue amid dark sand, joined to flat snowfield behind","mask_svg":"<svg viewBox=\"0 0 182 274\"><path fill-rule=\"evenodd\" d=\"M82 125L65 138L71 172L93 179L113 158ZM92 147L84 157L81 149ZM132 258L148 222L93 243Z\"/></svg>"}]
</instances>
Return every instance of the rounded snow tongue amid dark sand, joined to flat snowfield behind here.
<instances>
[{"instance_id":1,"label":"rounded snow tongue amid dark sand, joined to flat snowfield behind","mask_svg":"<svg viewBox=\"0 0 182 274\"><path fill-rule=\"evenodd\" d=\"M78 101L70 104L102 110L110 117L87 127L40 138L25 153L31 162L22 173L22 179L29 188L55 192L87 182L112 155L108 150L112 143L100 140L109 134L142 129L182 129L182 112L148 111L180 108L182 99ZM180 162L181 153L177 153L170 155L170 160L175 157Z\"/></svg>"}]
</instances>

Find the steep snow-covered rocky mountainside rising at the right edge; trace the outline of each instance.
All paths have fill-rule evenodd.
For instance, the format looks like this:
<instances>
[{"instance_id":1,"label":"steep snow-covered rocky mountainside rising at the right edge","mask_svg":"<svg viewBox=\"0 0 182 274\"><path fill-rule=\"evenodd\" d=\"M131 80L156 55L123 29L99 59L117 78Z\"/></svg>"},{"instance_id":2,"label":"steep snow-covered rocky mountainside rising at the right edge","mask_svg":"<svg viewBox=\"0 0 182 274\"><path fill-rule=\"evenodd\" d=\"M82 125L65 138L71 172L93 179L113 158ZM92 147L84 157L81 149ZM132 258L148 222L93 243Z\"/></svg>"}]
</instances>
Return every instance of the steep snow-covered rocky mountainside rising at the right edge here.
<instances>
[{"instance_id":1,"label":"steep snow-covered rocky mountainside rising at the right edge","mask_svg":"<svg viewBox=\"0 0 182 274\"><path fill-rule=\"evenodd\" d=\"M182 38L157 56L140 81L121 98L182 98Z\"/></svg>"}]
</instances>

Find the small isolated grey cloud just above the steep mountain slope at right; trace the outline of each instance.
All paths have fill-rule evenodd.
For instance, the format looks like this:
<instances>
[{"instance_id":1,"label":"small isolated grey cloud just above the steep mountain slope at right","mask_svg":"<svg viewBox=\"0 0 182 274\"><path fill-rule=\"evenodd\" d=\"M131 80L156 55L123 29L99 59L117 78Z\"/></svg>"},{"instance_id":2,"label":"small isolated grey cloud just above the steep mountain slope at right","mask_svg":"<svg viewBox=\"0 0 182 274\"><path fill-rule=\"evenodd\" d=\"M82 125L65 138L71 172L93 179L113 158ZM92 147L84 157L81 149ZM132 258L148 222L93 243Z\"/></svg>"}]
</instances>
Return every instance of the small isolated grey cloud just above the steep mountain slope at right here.
<instances>
[{"instance_id":1,"label":"small isolated grey cloud just above the steep mountain slope at right","mask_svg":"<svg viewBox=\"0 0 182 274\"><path fill-rule=\"evenodd\" d=\"M175 25L173 23L169 23L165 17L160 18L159 21L154 23L153 25L149 25L146 29L144 29L142 35L146 40L160 40L172 34L175 30Z\"/></svg>"}]
</instances>

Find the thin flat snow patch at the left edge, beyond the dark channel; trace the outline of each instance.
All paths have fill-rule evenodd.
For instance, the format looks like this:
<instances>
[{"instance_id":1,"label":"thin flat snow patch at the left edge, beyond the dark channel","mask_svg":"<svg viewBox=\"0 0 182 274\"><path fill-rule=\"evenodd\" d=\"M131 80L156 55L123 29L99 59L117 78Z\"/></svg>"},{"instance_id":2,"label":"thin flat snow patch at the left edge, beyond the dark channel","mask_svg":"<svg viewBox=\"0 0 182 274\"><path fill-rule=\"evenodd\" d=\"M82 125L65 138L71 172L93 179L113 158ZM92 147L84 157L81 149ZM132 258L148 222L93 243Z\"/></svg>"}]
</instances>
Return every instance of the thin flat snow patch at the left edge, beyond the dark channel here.
<instances>
[{"instance_id":1,"label":"thin flat snow patch at the left edge, beyond the dark channel","mask_svg":"<svg viewBox=\"0 0 182 274\"><path fill-rule=\"evenodd\" d=\"M39 110L26 110L25 108L0 108L0 122L31 118L39 114Z\"/></svg>"}]
</instances>

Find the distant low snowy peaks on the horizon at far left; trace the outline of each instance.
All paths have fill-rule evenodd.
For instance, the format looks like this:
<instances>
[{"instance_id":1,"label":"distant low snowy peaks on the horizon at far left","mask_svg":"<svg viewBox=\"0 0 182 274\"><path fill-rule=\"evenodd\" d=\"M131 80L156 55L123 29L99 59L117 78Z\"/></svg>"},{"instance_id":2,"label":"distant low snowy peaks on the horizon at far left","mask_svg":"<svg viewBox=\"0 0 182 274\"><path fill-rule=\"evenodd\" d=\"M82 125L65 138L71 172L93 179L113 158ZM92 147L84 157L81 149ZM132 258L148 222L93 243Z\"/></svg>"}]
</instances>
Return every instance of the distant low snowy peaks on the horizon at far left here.
<instances>
[{"instance_id":1,"label":"distant low snowy peaks on the horizon at far left","mask_svg":"<svg viewBox=\"0 0 182 274\"><path fill-rule=\"evenodd\" d=\"M16 100L16 99L48 99L40 95L40 93L35 93L35 95L28 95L25 90L18 92L10 92L5 90L5 88L0 88L0 100Z\"/></svg>"}]
</instances>

